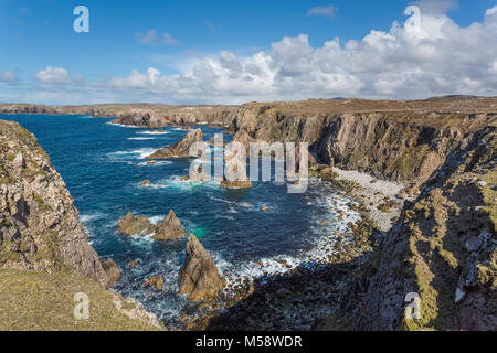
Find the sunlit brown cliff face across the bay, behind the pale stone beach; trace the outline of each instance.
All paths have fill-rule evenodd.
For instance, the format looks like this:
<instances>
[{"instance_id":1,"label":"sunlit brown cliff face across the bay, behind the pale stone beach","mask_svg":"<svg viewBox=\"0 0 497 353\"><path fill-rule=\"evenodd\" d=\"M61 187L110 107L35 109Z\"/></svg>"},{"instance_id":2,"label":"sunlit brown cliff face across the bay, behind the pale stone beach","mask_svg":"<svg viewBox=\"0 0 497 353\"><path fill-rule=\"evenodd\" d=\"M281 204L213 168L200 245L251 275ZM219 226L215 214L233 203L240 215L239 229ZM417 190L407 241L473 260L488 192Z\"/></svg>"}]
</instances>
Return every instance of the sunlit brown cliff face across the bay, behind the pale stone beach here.
<instances>
[{"instance_id":1,"label":"sunlit brown cliff face across the bay, behind the pale stone beach","mask_svg":"<svg viewBox=\"0 0 497 353\"><path fill-rule=\"evenodd\" d=\"M279 105L253 104L239 110L230 130L243 143L308 142L318 162L419 186L462 139L496 120L493 113L294 114Z\"/></svg>"}]
</instances>

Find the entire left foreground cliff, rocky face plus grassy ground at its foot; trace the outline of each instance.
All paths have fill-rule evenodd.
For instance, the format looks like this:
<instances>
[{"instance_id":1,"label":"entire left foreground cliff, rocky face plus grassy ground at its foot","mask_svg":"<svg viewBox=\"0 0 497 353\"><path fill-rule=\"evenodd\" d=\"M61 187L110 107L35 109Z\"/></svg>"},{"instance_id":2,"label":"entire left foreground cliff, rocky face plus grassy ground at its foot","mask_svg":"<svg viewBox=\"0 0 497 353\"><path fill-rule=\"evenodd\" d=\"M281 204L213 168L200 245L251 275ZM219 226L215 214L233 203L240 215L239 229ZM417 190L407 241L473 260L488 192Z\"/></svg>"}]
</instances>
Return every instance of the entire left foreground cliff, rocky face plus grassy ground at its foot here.
<instances>
[{"instance_id":1,"label":"entire left foreground cliff, rocky face plus grassy ground at its foot","mask_svg":"<svg viewBox=\"0 0 497 353\"><path fill-rule=\"evenodd\" d=\"M107 275L77 215L64 181L34 136L17 122L0 120L0 327L159 327L139 304L126 311L128 300L104 289ZM60 310L74 307L72 296L78 291L91 296L95 315L81 325L72 310ZM36 312L44 319L36 319Z\"/></svg>"}]
</instances>

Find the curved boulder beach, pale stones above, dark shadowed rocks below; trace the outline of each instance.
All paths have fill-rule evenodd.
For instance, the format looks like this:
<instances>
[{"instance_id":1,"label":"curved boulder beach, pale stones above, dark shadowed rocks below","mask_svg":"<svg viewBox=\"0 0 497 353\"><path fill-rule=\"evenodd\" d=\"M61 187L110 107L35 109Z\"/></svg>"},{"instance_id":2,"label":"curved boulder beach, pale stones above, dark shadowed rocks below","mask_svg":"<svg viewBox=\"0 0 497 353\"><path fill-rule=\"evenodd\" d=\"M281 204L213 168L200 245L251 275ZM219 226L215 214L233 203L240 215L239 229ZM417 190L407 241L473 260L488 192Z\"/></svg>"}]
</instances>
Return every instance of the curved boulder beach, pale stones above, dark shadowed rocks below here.
<instances>
[{"instance_id":1,"label":"curved boulder beach, pale stones above, dark shadowed rocks below","mask_svg":"<svg viewBox=\"0 0 497 353\"><path fill-rule=\"evenodd\" d=\"M181 315L183 327L177 330L225 330L237 329L250 330L310 330L315 320L335 311L338 306L338 295L347 286L348 275L352 274L357 263L361 261L362 255L370 250L370 236L374 228L379 232L388 232L391 228L392 218L400 214L403 205L399 203L390 212L383 213L376 206L364 205L363 200L378 200L390 197L399 200L395 195L403 185L395 182L379 182L376 188L370 186L372 176L357 171L341 171L338 180L348 180L357 183L353 190L340 189L332 182L317 179L316 184L322 183L330 188L336 197L345 199L345 202L357 202L357 211L346 204L350 211L357 212L360 217L356 222L349 222L345 233L340 234L338 250L334 248L328 253L329 257L322 261L303 261L289 266L283 261L286 270L272 272L268 276L253 276L240 278L237 282L231 282L220 293L220 300L211 303L198 304L202 308L192 317ZM373 183L374 184L374 183ZM382 191L384 193L382 193ZM335 206L335 208L337 208ZM330 215L336 216L336 211ZM337 235L337 232L336 234ZM343 237L341 237L343 235ZM325 236L331 240L334 236ZM313 259L311 259L313 260ZM262 265L262 261L258 261ZM320 296L317 292L321 292ZM319 300L317 300L319 297ZM272 300L276 302L271 303ZM262 307L262 308L261 308ZM296 309L296 308L299 309ZM267 314L266 311L274 312ZM292 312L293 318L286 319ZM271 317L277 317L276 324L272 323ZM271 319L271 320L268 320Z\"/></svg>"}]
</instances>

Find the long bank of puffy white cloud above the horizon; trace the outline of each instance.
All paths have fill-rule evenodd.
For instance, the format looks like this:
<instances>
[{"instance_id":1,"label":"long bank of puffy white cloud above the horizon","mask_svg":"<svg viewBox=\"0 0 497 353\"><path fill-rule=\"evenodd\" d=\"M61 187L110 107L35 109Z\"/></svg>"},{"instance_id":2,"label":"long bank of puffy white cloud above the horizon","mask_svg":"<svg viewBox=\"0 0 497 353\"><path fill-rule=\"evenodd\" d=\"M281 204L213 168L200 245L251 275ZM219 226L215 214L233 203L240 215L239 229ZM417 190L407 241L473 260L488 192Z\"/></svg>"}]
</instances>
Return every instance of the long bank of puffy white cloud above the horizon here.
<instances>
[{"instance_id":1,"label":"long bank of puffy white cloud above the horizon","mask_svg":"<svg viewBox=\"0 0 497 353\"><path fill-rule=\"evenodd\" d=\"M222 51L216 56L183 58L176 74L150 67L99 82L73 76L64 90L52 89L67 97L66 87L72 87L88 100L113 97L115 101L172 104L497 95L496 57L497 7L486 11L483 22L465 28L443 13L417 17L413 12L404 23L393 22L389 31L372 30L343 43L335 38L313 46L305 34L285 36L269 50L246 56ZM53 67L35 78L70 79L65 69Z\"/></svg>"}]
</instances>

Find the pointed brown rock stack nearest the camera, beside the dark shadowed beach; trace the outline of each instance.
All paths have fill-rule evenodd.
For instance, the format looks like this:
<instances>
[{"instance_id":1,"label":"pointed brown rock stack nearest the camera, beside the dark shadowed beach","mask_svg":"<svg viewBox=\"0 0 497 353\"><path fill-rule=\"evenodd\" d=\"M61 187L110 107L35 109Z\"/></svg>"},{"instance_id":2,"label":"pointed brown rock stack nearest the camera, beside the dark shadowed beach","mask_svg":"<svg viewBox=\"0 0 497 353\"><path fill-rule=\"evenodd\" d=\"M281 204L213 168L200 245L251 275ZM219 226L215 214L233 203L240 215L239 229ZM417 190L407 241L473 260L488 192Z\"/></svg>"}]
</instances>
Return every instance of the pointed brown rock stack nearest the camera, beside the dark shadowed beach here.
<instances>
[{"instance_id":1,"label":"pointed brown rock stack nearest the camera, beside the dark shadowed beach","mask_svg":"<svg viewBox=\"0 0 497 353\"><path fill-rule=\"evenodd\" d=\"M179 290L190 300L210 300L224 287L225 280L219 274L212 256L193 234L187 243L187 258L179 272Z\"/></svg>"}]
</instances>

